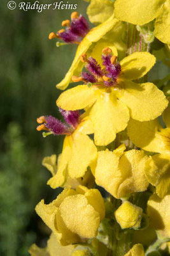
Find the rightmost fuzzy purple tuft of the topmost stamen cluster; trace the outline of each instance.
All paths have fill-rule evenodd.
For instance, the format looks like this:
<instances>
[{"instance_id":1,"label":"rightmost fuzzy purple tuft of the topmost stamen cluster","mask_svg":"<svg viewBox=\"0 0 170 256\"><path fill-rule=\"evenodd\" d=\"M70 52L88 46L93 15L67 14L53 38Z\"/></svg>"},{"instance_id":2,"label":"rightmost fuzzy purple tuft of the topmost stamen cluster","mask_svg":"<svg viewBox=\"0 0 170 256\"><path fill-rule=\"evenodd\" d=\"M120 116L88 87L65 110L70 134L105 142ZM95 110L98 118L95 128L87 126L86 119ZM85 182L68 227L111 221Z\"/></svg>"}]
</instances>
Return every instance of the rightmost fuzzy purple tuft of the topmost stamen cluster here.
<instances>
[{"instance_id":1,"label":"rightmost fuzzy purple tuft of the topmost stamen cluster","mask_svg":"<svg viewBox=\"0 0 170 256\"><path fill-rule=\"evenodd\" d=\"M80 15L78 19L73 19L71 21L70 27L74 34L82 37L84 37L89 32L89 24L82 15Z\"/></svg>"}]
</instances>

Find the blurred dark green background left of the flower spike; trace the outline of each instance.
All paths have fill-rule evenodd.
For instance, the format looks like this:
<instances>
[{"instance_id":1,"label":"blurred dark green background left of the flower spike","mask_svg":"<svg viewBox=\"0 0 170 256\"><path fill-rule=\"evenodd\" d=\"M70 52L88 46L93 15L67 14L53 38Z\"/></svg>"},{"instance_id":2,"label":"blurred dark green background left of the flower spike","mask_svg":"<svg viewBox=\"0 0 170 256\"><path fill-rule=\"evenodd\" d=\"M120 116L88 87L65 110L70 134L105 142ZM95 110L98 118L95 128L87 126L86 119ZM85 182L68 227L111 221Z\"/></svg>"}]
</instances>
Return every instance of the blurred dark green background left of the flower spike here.
<instances>
[{"instance_id":1,"label":"blurred dark green background left of the flower spike","mask_svg":"<svg viewBox=\"0 0 170 256\"><path fill-rule=\"evenodd\" d=\"M50 202L58 193L46 185L50 173L41 161L59 154L63 141L58 136L43 138L36 131L36 118L60 118L55 104L60 91L55 84L70 67L77 45L57 48L56 40L48 40L48 34L61 29L62 20L70 19L73 11L24 12L9 10L7 3L1 0L0 6L0 255L24 256L29 255L32 243L45 246L50 232L34 207L42 198ZM76 11L85 15L85 1L69 3L77 3Z\"/></svg>"}]
</instances>

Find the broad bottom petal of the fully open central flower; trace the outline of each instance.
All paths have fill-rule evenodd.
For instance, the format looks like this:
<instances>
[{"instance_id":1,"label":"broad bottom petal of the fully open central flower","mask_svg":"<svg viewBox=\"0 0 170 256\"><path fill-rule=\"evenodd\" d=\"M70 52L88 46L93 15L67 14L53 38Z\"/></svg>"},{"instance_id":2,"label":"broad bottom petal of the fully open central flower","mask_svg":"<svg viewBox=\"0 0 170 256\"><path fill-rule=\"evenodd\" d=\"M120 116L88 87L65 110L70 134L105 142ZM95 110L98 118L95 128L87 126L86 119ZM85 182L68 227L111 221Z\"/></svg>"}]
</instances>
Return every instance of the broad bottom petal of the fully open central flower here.
<instances>
[{"instance_id":1,"label":"broad bottom petal of the fully open central flower","mask_svg":"<svg viewBox=\"0 0 170 256\"><path fill-rule=\"evenodd\" d=\"M127 127L129 111L113 93L99 93L90 111L90 118L94 125L96 145L108 145L115 140L117 132Z\"/></svg>"}]
</instances>

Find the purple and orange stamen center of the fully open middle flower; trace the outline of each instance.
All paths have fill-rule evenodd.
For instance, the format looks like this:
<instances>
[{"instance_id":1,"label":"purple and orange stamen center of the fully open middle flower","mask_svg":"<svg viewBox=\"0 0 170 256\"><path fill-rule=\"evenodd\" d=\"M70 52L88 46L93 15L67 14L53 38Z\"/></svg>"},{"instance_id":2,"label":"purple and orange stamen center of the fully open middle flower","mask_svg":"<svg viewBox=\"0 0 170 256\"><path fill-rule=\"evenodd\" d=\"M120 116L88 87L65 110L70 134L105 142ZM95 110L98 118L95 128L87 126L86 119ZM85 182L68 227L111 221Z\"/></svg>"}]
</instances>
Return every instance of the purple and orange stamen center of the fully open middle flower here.
<instances>
[{"instance_id":1,"label":"purple and orange stamen center of the fully open middle flower","mask_svg":"<svg viewBox=\"0 0 170 256\"><path fill-rule=\"evenodd\" d=\"M81 72L80 77L73 76L73 82L84 81L85 83L95 83L96 85L113 87L117 85L117 78L121 72L120 63L117 56L111 54L110 48L104 48L101 56L103 67L97 61L86 54L82 54L80 60L85 63L87 71Z\"/></svg>"}]
</instances>

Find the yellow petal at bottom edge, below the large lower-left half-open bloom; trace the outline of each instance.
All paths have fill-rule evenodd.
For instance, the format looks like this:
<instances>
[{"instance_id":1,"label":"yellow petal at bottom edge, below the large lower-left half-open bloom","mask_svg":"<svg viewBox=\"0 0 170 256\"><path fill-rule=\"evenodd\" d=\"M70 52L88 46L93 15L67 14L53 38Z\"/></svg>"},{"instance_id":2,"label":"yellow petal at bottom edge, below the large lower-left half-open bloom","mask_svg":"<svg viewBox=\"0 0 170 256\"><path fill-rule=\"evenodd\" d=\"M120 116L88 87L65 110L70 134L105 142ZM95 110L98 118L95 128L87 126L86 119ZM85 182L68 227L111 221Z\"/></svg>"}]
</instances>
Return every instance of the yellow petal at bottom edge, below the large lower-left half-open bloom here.
<instances>
[{"instance_id":1,"label":"yellow petal at bottom edge, below the large lower-left half-open bloom","mask_svg":"<svg viewBox=\"0 0 170 256\"><path fill-rule=\"evenodd\" d=\"M74 250L74 245L62 246L57 241L55 234L51 234L50 239L47 241L48 252L50 256L61 256L61 255L71 255L71 252Z\"/></svg>"}]
</instances>

